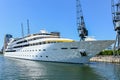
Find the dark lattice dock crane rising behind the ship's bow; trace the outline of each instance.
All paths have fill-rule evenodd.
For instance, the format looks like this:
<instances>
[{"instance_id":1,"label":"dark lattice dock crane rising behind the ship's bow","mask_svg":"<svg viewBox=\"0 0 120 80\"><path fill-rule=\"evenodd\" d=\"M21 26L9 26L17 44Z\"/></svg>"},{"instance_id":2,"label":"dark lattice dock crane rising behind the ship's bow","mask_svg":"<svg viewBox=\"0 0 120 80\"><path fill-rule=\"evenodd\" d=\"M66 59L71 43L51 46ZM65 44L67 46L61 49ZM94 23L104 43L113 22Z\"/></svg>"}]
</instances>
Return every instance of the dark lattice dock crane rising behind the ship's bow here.
<instances>
[{"instance_id":1,"label":"dark lattice dock crane rising behind the ship's bow","mask_svg":"<svg viewBox=\"0 0 120 80\"><path fill-rule=\"evenodd\" d=\"M85 26L80 0L76 0L76 9L77 9L77 30L80 37L80 41L84 41L86 36L88 36L88 30L86 29Z\"/></svg>"}]
</instances>

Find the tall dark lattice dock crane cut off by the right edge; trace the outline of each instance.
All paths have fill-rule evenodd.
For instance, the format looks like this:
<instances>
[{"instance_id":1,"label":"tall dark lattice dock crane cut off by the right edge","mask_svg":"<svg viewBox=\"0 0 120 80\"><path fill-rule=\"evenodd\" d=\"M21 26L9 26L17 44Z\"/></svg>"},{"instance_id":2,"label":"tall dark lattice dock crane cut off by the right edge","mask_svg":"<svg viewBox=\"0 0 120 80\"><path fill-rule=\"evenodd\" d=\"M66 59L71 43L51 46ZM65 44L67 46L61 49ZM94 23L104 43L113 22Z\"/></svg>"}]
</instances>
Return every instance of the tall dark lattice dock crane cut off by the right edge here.
<instances>
[{"instance_id":1,"label":"tall dark lattice dock crane cut off by the right edge","mask_svg":"<svg viewBox=\"0 0 120 80\"><path fill-rule=\"evenodd\" d=\"M112 18L114 30L116 31L116 41L114 44L114 55L118 55L120 50L120 0L111 0L112 2ZM117 52L115 52L117 50Z\"/></svg>"}]
</instances>

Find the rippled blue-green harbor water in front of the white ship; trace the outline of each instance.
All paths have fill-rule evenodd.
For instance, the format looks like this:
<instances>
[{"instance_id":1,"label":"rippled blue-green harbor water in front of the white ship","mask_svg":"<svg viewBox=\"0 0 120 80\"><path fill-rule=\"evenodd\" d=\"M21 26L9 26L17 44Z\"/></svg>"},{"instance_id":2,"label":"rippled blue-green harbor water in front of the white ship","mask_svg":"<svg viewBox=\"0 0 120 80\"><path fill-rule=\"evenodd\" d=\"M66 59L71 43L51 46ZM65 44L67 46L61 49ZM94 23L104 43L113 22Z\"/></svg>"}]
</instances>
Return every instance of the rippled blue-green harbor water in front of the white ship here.
<instances>
[{"instance_id":1,"label":"rippled blue-green harbor water in front of the white ship","mask_svg":"<svg viewBox=\"0 0 120 80\"><path fill-rule=\"evenodd\" d=\"M0 80L120 80L120 64L65 64L0 55Z\"/></svg>"}]
</instances>

